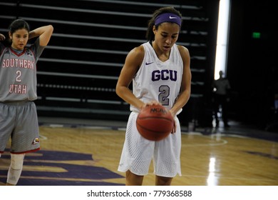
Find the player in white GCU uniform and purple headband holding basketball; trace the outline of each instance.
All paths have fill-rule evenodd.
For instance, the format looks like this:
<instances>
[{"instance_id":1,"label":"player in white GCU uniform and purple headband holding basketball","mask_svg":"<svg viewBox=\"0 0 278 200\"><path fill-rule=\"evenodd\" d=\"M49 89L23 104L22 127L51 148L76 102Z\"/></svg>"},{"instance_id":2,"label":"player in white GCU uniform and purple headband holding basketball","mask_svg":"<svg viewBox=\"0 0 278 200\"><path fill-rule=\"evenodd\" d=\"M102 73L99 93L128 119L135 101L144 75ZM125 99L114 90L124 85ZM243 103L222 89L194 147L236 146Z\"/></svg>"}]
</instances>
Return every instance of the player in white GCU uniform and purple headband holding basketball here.
<instances>
[{"instance_id":1,"label":"player in white GCU uniform and purple headband holding basketball","mask_svg":"<svg viewBox=\"0 0 278 200\"><path fill-rule=\"evenodd\" d=\"M190 54L176 45L182 16L173 7L153 13L148 42L131 50L116 86L116 93L130 104L130 113L118 171L126 185L142 185L153 159L155 185L170 185L180 171L181 131L177 114L190 98ZM128 86L133 81L133 92ZM162 104L175 119L172 134L161 141L148 141L138 133L136 118L148 104Z\"/></svg>"}]
</instances>

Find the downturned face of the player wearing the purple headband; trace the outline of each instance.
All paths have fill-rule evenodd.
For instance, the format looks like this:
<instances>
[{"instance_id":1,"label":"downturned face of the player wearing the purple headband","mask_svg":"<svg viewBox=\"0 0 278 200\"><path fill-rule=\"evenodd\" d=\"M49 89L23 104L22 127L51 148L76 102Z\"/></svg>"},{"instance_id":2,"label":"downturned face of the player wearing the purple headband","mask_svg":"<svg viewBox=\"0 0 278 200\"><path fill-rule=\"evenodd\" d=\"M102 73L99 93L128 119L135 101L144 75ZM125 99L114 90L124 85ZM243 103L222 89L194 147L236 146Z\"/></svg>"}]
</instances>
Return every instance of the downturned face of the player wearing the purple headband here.
<instances>
[{"instance_id":1,"label":"downturned face of the player wearing the purple headband","mask_svg":"<svg viewBox=\"0 0 278 200\"><path fill-rule=\"evenodd\" d=\"M164 22L158 26L158 29L153 28L155 34L155 44L158 45L160 51L170 51L171 47L177 41L180 32L180 26L177 24Z\"/></svg>"}]
</instances>

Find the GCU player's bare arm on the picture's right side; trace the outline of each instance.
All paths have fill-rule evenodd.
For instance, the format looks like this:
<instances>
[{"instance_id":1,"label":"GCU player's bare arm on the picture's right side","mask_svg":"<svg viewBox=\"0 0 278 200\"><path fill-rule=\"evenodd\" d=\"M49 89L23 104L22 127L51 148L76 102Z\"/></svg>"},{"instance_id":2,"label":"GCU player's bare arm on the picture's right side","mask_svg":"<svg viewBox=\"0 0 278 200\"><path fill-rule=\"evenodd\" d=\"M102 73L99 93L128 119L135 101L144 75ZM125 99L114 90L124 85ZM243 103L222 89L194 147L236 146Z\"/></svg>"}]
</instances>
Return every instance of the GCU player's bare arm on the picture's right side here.
<instances>
[{"instance_id":1,"label":"GCU player's bare arm on the picture's right side","mask_svg":"<svg viewBox=\"0 0 278 200\"><path fill-rule=\"evenodd\" d=\"M191 70L190 70L190 53L184 46L178 46L180 50L180 55L183 61L183 74L182 74L182 84L180 88L180 94L177 96L175 104L170 111L173 116L177 114L177 111L182 109L190 98L191 93Z\"/></svg>"}]
</instances>

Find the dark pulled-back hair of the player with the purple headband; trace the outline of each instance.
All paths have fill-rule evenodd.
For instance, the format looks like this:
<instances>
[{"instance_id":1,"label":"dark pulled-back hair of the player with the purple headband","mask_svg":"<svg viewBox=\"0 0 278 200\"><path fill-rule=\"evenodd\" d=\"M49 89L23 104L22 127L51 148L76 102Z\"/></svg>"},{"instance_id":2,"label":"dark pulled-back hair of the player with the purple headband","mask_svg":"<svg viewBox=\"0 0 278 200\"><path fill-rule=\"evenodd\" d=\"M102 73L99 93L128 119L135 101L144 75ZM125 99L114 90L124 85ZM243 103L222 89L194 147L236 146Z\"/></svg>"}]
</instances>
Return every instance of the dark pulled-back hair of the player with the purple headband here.
<instances>
[{"instance_id":1,"label":"dark pulled-back hair of the player with the purple headband","mask_svg":"<svg viewBox=\"0 0 278 200\"><path fill-rule=\"evenodd\" d=\"M176 14L177 16L180 16L180 18L182 18L182 14L180 14L180 11L177 11L174 7L163 7L154 11L153 17L148 21L148 30L145 35L148 41L153 41L155 39L155 34L153 34L153 26L155 25L155 18L158 15L163 13L173 13ZM160 26L160 24L155 26L155 29L158 29L158 26Z\"/></svg>"}]
</instances>

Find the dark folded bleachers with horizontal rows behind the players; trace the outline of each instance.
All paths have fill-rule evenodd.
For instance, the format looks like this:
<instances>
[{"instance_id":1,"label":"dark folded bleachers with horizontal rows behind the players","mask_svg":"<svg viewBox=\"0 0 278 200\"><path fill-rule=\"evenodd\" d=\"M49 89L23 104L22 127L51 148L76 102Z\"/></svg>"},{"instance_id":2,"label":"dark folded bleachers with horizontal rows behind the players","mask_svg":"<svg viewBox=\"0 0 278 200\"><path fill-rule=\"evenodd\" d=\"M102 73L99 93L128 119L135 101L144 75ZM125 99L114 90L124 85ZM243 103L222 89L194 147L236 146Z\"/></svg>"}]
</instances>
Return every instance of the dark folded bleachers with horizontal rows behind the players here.
<instances>
[{"instance_id":1,"label":"dark folded bleachers with horizontal rows behind the players","mask_svg":"<svg viewBox=\"0 0 278 200\"><path fill-rule=\"evenodd\" d=\"M155 9L174 6L183 15L177 44L190 50L192 96L182 115L202 97L212 67L207 56L210 15L206 1L1 0L0 32L15 18L31 29L46 24L53 36L38 61L38 115L127 119L129 105L115 94L128 51L145 39ZM213 35L212 35L213 37ZM211 38L214 39L214 38Z\"/></svg>"}]
</instances>

